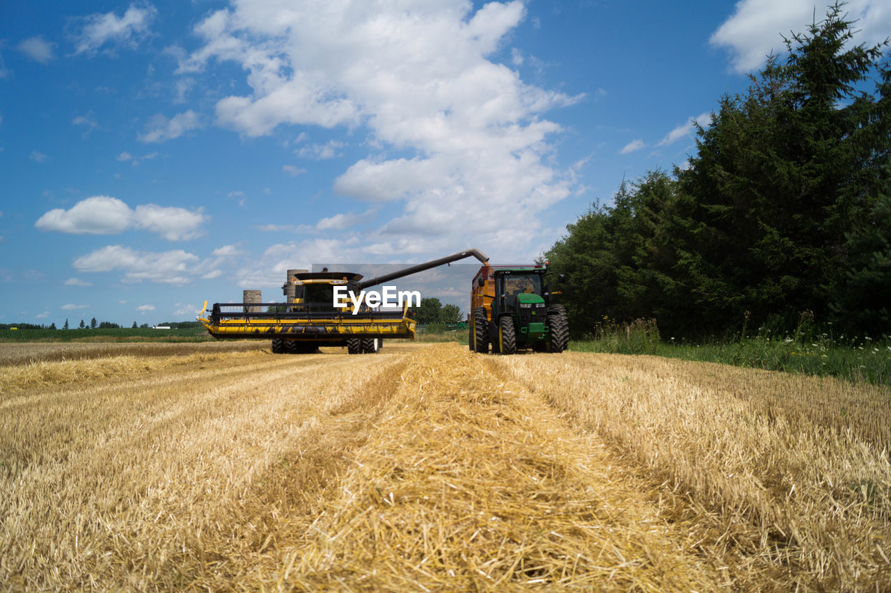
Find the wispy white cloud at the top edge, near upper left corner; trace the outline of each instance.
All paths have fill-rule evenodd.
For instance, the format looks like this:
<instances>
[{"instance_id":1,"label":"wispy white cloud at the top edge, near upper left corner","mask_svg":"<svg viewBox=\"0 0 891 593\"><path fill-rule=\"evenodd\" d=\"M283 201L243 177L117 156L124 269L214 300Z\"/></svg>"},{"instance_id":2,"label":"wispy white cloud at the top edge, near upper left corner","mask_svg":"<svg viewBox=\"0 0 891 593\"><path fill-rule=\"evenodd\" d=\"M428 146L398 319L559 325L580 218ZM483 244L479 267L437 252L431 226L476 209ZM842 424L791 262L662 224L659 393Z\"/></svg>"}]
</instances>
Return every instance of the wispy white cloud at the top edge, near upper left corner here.
<instances>
[{"instance_id":1,"label":"wispy white cloud at the top edge, near upper left corner","mask_svg":"<svg viewBox=\"0 0 891 593\"><path fill-rule=\"evenodd\" d=\"M95 13L78 19L75 35L75 53L93 55L103 45L110 45L110 52L119 47L134 48L149 35L149 28L158 11L147 3L130 4L127 12L118 17L114 12Z\"/></svg>"}]
</instances>

